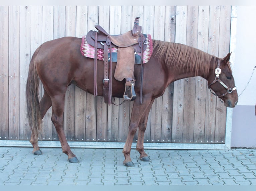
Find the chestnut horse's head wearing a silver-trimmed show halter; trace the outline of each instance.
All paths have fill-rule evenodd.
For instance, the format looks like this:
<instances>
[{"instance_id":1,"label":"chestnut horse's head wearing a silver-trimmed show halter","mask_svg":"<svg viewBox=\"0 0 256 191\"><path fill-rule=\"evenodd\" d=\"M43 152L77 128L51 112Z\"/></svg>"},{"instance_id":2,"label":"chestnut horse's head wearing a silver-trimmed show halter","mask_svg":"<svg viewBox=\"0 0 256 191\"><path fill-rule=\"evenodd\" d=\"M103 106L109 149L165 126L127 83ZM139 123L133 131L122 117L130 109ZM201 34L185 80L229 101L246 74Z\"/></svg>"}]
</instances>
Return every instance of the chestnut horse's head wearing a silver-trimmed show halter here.
<instances>
[{"instance_id":1,"label":"chestnut horse's head wearing a silver-trimmed show halter","mask_svg":"<svg viewBox=\"0 0 256 191\"><path fill-rule=\"evenodd\" d=\"M231 53L228 53L223 59L213 59L214 68L210 67L208 88L214 91L210 89L212 94L224 101L226 107L233 108L237 105L238 95L229 62L230 55Z\"/></svg>"}]
</instances>

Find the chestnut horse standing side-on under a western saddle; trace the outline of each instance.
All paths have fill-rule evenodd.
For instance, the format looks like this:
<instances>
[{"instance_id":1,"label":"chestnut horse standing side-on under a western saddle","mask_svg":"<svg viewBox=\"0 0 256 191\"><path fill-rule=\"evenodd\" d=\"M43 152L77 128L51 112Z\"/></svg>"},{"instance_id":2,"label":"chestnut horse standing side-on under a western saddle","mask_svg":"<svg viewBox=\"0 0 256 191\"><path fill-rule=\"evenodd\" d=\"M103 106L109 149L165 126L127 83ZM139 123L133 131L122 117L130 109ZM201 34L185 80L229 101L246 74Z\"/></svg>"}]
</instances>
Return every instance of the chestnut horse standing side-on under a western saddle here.
<instances>
[{"instance_id":1,"label":"chestnut horse standing side-on under a western saddle","mask_svg":"<svg viewBox=\"0 0 256 191\"><path fill-rule=\"evenodd\" d=\"M94 59L82 56L80 46L81 38L63 37L43 43L32 56L26 98L28 121L32 131L30 142L33 145L33 153L36 155L42 154L38 146L38 133L41 130L42 118L52 106L51 120L58 133L62 150L68 155L70 162L78 162L63 131L63 112L65 92L70 84L94 94ZM138 127L136 149L140 153L142 161L150 161L143 148L148 114L154 99L163 95L171 82L182 78L201 76L208 81L210 91L213 90L212 93L220 97L225 106L231 108L236 106L238 95L229 59L230 53L222 59L186 45L153 40L152 56L148 63L144 64L142 104L140 104L140 65L135 65L134 68L137 98L134 100L129 132L123 148L125 158L123 164L125 166L134 166L130 158L130 151ZM114 74L116 63L114 62L112 66L112 74ZM98 61L97 78L98 95L103 96L103 61ZM44 88L44 95L40 103L39 79ZM117 81L114 77L112 79L112 96L122 98L125 81Z\"/></svg>"}]
</instances>

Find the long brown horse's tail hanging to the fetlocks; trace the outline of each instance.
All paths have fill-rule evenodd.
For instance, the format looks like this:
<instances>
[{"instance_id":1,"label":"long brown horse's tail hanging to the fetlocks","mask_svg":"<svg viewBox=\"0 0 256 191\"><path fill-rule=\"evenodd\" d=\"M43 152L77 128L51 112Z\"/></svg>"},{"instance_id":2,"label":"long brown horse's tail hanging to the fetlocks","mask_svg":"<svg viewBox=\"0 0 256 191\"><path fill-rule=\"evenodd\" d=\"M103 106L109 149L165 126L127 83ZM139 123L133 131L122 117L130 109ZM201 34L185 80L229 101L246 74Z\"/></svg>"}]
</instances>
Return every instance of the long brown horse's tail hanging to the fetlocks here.
<instances>
[{"instance_id":1,"label":"long brown horse's tail hanging to the fetlocks","mask_svg":"<svg viewBox=\"0 0 256 191\"><path fill-rule=\"evenodd\" d=\"M39 108L39 77L35 67L35 59L40 47L36 49L30 61L26 86L27 118L32 131L31 137L36 142L42 129L42 117Z\"/></svg>"}]
</instances>

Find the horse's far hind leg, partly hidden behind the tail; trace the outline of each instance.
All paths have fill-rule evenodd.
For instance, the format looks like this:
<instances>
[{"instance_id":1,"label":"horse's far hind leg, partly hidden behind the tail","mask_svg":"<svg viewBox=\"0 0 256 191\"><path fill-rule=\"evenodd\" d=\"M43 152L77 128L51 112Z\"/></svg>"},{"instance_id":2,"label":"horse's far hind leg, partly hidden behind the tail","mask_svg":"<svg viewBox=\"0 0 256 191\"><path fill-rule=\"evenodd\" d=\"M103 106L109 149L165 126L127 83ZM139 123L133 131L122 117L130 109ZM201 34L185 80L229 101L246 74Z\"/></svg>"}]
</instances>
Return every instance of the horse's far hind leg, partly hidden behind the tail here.
<instances>
[{"instance_id":1,"label":"horse's far hind leg, partly hidden behind the tail","mask_svg":"<svg viewBox=\"0 0 256 191\"><path fill-rule=\"evenodd\" d=\"M45 113L48 111L48 109L51 107L51 99L50 96L47 94L46 91L44 91L44 95L39 103L40 105L40 113L41 113L41 118L44 117ZM32 129L33 130L33 129ZM32 132L32 135L34 133ZM30 138L30 143L33 145L33 154L35 155L41 155L42 151L40 150L39 146L38 146L38 133L37 136L31 136Z\"/></svg>"}]
</instances>

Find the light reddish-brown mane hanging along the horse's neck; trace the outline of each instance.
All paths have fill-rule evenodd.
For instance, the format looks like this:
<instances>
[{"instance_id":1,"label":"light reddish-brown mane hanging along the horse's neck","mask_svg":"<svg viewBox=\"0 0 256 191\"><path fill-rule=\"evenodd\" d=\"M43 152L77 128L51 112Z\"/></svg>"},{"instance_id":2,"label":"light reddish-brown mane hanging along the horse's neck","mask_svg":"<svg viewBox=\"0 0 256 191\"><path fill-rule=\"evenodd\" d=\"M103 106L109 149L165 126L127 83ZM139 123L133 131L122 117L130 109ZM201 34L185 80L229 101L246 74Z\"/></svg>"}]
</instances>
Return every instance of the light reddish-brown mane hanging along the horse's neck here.
<instances>
[{"instance_id":1,"label":"light reddish-brown mane hanging along the horse's neck","mask_svg":"<svg viewBox=\"0 0 256 191\"><path fill-rule=\"evenodd\" d=\"M196 76L208 76L211 59L217 57L199 49L179 44L153 40L153 52L158 58L165 58L167 68L195 71Z\"/></svg>"}]
</instances>

